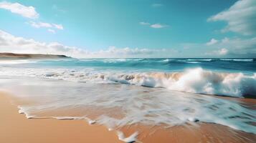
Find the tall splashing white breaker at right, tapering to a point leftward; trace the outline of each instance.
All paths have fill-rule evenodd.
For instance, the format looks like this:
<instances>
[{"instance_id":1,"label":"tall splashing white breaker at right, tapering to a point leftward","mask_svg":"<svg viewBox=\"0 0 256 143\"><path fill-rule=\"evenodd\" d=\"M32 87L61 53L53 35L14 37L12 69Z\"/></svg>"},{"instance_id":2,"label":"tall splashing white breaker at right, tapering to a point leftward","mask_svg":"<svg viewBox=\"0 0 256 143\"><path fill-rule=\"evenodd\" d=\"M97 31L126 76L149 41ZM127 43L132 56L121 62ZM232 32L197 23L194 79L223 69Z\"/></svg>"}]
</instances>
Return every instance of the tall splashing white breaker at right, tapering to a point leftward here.
<instances>
[{"instance_id":1,"label":"tall splashing white breaker at right, tapering to a point leftward","mask_svg":"<svg viewBox=\"0 0 256 143\"><path fill-rule=\"evenodd\" d=\"M121 84L163 87L197 94L243 97L255 96L256 93L256 74L250 77L242 73L219 73L201 68L175 73L123 74L101 78Z\"/></svg>"}]
</instances>

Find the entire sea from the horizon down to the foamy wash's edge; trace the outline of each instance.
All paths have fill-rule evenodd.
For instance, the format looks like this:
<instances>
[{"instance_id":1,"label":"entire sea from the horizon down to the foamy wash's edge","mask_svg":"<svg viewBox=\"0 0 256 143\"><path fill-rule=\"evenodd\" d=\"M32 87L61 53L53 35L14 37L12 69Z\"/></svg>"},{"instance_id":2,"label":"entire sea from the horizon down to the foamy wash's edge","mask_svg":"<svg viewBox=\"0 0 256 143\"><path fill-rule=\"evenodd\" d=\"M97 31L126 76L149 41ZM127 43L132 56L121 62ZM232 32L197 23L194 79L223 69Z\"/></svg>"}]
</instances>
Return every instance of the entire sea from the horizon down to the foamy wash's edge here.
<instances>
[{"instance_id":1,"label":"entire sea from the horizon down to the foamy wash's edge","mask_svg":"<svg viewBox=\"0 0 256 143\"><path fill-rule=\"evenodd\" d=\"M0 89L33 101L28 118L87 119L108 129L216 123L256 134L256 59L0 61Z\"/></svg>"}]
</instances>

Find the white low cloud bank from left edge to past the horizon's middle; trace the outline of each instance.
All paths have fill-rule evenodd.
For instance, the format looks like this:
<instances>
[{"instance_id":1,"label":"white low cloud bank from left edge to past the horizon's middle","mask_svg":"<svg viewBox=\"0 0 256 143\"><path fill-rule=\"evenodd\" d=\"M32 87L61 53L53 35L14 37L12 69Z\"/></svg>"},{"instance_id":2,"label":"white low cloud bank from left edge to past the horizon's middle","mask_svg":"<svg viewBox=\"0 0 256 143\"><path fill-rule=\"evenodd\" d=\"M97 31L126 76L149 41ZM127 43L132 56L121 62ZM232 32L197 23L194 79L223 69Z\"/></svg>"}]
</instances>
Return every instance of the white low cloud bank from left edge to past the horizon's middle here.
<instances>
[{"instance_id":1,"label":"white low cloud bank from left edge to past the horizon's middle","mask_svg":"<svg viewBox=\"0 0 256 143\"><path fill-rule=\"evenodd\" d=\"M171 49L139 49L139 48L117 48L110 46L100 51L87 51L75 46L65 46L58 42L44 43L34 39L24 39L13 36L6 31L0 30L0 52L29 53L29 54L65 54L79 58L115 58L115 57L169 57L175 54Z\"/></svg>"}]
</instances>

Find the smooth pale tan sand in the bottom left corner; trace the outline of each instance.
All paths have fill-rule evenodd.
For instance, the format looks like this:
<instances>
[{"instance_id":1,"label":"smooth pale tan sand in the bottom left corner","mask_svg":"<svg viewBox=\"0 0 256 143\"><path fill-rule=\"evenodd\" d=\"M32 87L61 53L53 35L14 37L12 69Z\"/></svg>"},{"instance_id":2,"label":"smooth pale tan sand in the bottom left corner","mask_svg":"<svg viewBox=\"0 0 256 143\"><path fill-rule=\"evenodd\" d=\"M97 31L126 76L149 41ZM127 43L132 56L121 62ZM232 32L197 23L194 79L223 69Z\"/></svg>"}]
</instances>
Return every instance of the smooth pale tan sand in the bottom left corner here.
<instances>
[{"instance_id":1,"label":"smooth pale tan sand in the bottom left corner","mask_svg":"<svg viewBox=\"0 0 256 143\"><path fill-rule=\"evenodd\" d=\"M10 101L8 95L0 93L0 142L120 142L115 132L83 120L27 119Z\"/></svg>"}]
</instances>

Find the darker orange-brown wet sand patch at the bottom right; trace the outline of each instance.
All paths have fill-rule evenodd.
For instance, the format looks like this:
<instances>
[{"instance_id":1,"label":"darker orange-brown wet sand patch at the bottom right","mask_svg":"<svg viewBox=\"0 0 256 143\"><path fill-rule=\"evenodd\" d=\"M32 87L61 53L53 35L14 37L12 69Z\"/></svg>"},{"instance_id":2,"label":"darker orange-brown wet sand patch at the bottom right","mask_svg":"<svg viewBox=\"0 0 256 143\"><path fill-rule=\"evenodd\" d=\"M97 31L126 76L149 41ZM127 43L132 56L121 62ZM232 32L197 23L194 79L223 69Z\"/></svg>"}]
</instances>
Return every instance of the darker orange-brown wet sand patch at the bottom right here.
<instances>
[{"instance_id":1,"label":"darker orange-brown wet sand patch at the bottom right","mask_svg":"<svg viewBox=\"0 0 256 143\"><path fill-rule=\"evenodd\" d=\"M139 132L138 139L146 143L254 143L256 135L237 131L219 124L199 123L199 126L186 125L164 128L133 125L120 129L126 136Z\"/></svg>"}]
</instances>

